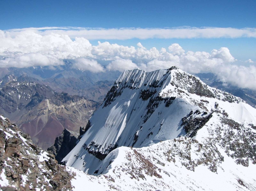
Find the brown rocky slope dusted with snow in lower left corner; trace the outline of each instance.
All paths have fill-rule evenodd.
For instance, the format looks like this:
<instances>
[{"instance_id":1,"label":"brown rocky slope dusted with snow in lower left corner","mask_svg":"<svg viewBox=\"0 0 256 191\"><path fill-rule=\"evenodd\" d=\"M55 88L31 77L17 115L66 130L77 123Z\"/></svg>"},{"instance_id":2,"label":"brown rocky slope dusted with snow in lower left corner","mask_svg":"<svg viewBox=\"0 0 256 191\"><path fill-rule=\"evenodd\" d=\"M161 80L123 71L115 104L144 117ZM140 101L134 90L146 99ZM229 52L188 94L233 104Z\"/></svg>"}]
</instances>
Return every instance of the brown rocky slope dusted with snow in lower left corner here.
<instances>
[{"instance_id":1,"label":"brown rocky slope dusted with snow in lower left corner","mask_svg":"<svg viewBox=\"0 0 256 191\"><path fill-rule=\"evenodd\" d=\"M74 174L57 164L55 156L33 144L7 118L0 116L0 190L72 190Z\"/></svg>"}]
</instances>

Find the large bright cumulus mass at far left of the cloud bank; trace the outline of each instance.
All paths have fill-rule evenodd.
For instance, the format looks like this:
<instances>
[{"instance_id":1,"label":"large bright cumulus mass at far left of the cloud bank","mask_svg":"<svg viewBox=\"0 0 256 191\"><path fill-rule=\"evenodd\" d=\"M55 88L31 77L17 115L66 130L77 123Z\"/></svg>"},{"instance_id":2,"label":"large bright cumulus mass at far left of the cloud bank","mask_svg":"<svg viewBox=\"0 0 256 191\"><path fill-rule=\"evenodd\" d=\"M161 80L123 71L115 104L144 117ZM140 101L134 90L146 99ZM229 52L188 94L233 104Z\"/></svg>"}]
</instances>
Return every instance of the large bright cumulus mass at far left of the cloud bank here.
<instances>
[{"instance_id":1,"label":"large bright cumulus mass at far left of the cloud bank","mask_svg":"<svg viewBox=\"0 0 256 191\"><path fill-rule=\"evenodd\" d=\"M12 37L0 31L0 67L63 65L64 59L91 57L91 48L90 42L81 37L71 40L67 35L40 35L31 30Z\"/></svg>"}]
</instances>

